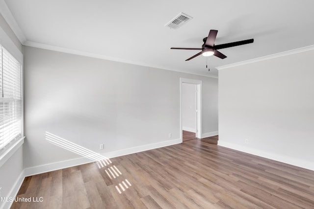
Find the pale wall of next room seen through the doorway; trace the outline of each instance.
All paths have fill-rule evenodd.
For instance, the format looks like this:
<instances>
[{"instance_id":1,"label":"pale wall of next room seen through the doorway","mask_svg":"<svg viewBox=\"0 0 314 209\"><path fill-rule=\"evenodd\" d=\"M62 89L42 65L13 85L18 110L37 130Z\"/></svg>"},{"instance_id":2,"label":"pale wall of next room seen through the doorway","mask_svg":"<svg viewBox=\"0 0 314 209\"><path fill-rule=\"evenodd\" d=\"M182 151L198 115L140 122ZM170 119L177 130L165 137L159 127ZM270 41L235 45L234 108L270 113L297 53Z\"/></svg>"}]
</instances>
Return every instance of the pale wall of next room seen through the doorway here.
<instances>
[{"instance_id":1,"label":"pale wall of next room seen through the doorway","mask_svg":"<svg viewBox=\"0 0 314 209\"><path fill-rule=\"evenodd\" d=\"M196 133L196 85L184 83L182 91L182 128Z\"/></svg>"}]
</instances>

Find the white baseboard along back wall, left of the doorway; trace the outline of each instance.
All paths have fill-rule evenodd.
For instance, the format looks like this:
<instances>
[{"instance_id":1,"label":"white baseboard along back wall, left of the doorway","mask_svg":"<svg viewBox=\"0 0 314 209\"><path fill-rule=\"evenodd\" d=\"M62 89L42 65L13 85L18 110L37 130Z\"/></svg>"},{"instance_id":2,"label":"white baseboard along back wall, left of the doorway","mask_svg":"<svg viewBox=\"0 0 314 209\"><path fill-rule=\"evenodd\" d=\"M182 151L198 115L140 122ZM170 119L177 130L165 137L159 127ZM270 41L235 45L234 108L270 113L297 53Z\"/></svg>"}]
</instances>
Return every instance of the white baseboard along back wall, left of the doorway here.
<instances>
[{"instance_id":1,"label":"white baseboard along back wall, left of the doorway","mask_svg":"<svg viewBox=\"0 0 314 209\"><path fill-rule=\"evenodd\" d=\"M105 158L115 158L115 157L129 155L129 154L133 154L133 153L137 153L137 152L142 152L142 151L147 151L147 150L151 150L151 149L157 149L160 147L179 144L181 142L182 141L180 139L172 139L172 140L167 140L167 141L162 141L162 142L157 142L157 143L152 143L152 144L147 144L147 145L142 145L142 146L136 146L136 147L131 147L131 148L107 152L107 153L100 153L100 154L102 156L104 156ZM80 157L80 158L61 161L61 162L55 162L55 163L49 163L49 164L44 164L44 165L39 165L39 166L34 166L34 167L28 167L28 168L24 169L24 174L25 174L25 176L32 176L32 175L36 175L39 173L50 172L53 170L63 169L63 168L67 168L67 167L72 167L72 166L86 164L86 163L92 163L92 162L94 162L94 161L87 159L87 158L84 158L84 157Z\"/></svg>"}]
</instances>

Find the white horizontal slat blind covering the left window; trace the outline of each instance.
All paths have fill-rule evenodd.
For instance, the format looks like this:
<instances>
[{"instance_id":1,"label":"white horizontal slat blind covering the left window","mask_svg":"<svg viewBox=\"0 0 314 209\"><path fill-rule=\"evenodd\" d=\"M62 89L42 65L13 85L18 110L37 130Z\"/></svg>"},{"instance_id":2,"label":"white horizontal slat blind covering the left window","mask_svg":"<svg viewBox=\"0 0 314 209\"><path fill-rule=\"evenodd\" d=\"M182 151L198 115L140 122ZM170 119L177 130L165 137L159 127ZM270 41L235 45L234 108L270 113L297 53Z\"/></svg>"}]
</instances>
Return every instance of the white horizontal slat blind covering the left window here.
<instances>
[{"instance_id":1,"label":"white horizontal slat blind covering the left window","mask_svg":"<svg viewBox=\"0 0 314 209\"><path fill-rule=\"evenodd\" d=\"M22 137L21 64L1 45L0 150Z\"/></svg>"}]
</instances>

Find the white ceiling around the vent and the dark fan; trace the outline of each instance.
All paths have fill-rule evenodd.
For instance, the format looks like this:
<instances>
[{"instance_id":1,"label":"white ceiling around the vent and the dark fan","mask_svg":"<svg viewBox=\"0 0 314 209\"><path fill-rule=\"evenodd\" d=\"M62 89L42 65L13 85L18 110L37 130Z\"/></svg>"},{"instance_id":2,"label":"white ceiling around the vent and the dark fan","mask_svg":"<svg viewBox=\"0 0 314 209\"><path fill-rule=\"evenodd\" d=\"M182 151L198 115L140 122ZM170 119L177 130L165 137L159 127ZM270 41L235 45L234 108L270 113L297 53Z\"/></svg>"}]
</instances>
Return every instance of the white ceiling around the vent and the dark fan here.
<instances>
[{"instance_id":1,"label":"white ceiling around the vent and the dark fan","mask_svg":"<svg viewBox=\"0 0 314 209\"><path fill-rule=\"evenodd\" d=\"M216 67L314 45L313 0L0 0L22 44L149 67L218 76ZM6 6L5 6L6 4ZM4 6L3 6L4 5ZM5 8L4 8L5 7ZM165 24L183 12L178 29ZM210 29L227 58L198 56Z\"/></svg>"}]
</instances>

